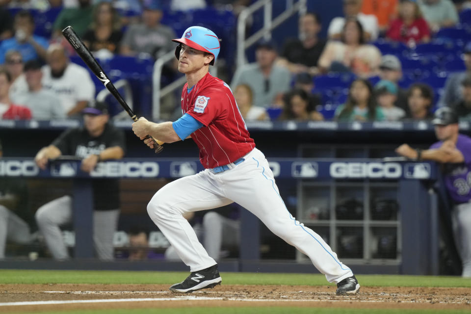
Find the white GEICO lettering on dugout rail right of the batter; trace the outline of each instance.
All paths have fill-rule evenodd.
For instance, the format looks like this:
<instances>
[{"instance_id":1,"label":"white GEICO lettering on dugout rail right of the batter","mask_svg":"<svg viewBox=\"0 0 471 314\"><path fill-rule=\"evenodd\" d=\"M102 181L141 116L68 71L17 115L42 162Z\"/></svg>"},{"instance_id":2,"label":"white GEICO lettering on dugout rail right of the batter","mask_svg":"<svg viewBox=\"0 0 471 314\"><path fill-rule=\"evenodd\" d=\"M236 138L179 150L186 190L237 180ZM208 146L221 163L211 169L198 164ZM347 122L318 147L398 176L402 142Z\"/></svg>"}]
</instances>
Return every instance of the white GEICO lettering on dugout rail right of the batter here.
<instances>
[{"instance_id":1,"label":"white GEICO lettering on dugout rail right of the batter","mask_svg":"<svg viewBox=\"0 0 471 314\"><path fill-rule=\"evenodd\" d=\"M400 178L402 166L397 162L333 162L332 178Z\"/></svg>"}]
</instances>

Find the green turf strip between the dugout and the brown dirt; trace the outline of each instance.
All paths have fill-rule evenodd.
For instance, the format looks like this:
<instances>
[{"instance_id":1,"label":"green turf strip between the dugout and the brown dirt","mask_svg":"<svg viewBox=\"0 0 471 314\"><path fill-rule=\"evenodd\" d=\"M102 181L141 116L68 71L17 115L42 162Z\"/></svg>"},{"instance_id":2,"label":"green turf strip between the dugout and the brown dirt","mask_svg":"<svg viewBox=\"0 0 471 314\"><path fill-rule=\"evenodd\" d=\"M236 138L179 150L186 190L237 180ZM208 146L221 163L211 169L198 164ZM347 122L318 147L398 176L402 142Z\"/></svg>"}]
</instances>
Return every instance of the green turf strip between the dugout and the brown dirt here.
<instances>
[{"instance_id":1,"label":"green turf strip between the dugout and the brown dirt","mask_svg":"<svg viewBox=\"0 0 471 314\"><path fill-rule=\"evenodd\" d=\"M157 271L75 271L0 270L0 284L166 284L181 282L188 272ZM226 285L308 285L329 284L320 274L226 273ZM357 275L364 287L467 287L470 278L406 275Z\"/></svg>"}]
</instances>

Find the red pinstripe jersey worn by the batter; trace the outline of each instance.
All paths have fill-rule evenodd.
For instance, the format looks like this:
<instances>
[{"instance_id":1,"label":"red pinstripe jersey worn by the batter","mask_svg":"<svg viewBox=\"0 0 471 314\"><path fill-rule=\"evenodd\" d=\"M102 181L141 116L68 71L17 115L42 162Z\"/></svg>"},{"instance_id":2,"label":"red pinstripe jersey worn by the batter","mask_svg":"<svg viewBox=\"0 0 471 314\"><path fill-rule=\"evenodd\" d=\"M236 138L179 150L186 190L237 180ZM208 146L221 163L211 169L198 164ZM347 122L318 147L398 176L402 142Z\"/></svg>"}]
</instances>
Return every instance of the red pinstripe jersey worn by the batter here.
<instances>
[{"instance_id":1,"label":"red pinstripe jersey worn by the batter","mask_svg":"<svg viewBox=\"0 0 471 314\"><path fill-rule=\"evenodd\" d=\"M234 162L255 148L234 95L224 81L208 73L189 93L187 88L185 84L182 111L204 125L191 138L198 145L205 168Z\"/></svg>"}]
</instances>

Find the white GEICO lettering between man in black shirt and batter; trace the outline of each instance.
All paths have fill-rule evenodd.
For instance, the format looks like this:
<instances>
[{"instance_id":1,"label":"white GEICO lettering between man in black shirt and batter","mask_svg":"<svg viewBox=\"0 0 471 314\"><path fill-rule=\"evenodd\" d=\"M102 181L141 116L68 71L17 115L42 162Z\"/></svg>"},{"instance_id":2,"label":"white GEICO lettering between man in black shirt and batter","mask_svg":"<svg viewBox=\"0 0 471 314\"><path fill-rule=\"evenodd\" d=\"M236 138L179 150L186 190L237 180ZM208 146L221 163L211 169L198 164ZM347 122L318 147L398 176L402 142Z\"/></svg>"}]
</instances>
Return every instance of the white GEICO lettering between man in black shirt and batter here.
<instances>
[{"instance_id":1,"label":"white GEICO lettering between man in black shirt and batter","mask_svg":"<svg viewBox=\"0 0 471 314\"><path fill-rule=\"evenodd\" d=\"M101 162L90 173L92 177L145 177L152 178L158 175L158 163L152 161L146 162L119 162L107 161Z\"/></svg>"}]
</instances>

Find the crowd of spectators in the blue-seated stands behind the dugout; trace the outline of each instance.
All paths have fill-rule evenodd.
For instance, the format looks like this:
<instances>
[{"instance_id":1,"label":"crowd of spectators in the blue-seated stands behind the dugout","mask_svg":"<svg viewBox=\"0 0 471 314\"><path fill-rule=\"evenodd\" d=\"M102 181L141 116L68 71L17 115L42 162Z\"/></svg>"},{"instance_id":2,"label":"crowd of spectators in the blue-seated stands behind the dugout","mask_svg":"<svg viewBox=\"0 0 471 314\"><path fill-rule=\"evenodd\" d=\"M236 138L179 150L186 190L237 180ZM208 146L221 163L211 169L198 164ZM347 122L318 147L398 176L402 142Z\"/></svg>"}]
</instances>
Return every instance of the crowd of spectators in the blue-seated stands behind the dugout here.
<instances>
[{"instance_id":1,"label":"crowd of spectators in the blue-seated stands behind the dugout","mask_svg":"<svg viewBox=\"0 0 471 314\"><path fill-rule=\"evenodd\" d=\"M406 75L401 65L403 56L383 54L376 43L378 40L398 42L413 50L433 41L444 27L457 26L459 10L469 8L469 2L342 0L342 16L321 21L315 12L301 15L297 36L293 34L285 39L283 47L274 40L261 40L255 46L255 62L239 68L229 68L226 64L229 73L226 79L231 80L246 120L427 119L437 106L444 105L461 108L459 112L466 113L471 103L471 45L463 49L468 70L446 74L443 92L438 92L437 86L432 88L423 81L417 84L419 79L407 77L409 84L403 84ZM232 4L236 15L251 1L172 0L168 3L165 10L182 12ZM57 16L50 37L36 35L31 10L54 9ZM126 10L138 14L120 14ZM89 71L70 61L74 51L60 33L65 26L73 25L98 57L121 54L158 58L172 51L171 39L181 35L161 23L163 15L164 5L160 0L2 1L0 76L3 79L0 83L8 89L5 93L4 87L1 94L2 118L79 118L81 110L94 99L98 90ZM327 38L320 36L323 28ZM172 66L165 70L169 68L175 71ZM352 78L343 91L329 94L326 93L329 86L317 89L317 78L342 74ZM329 99L335 93L340 96ZM333 105L335 113L326 115L322 111L326 104ZM270 114L266 110L271 110ZM162 116L167 115L162 113Z\"/></svg>"}]
</instances>

